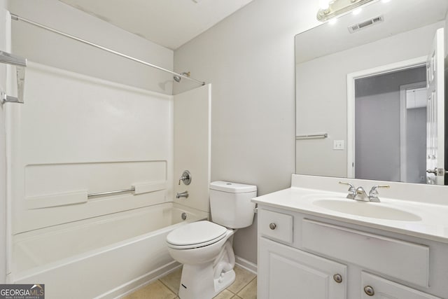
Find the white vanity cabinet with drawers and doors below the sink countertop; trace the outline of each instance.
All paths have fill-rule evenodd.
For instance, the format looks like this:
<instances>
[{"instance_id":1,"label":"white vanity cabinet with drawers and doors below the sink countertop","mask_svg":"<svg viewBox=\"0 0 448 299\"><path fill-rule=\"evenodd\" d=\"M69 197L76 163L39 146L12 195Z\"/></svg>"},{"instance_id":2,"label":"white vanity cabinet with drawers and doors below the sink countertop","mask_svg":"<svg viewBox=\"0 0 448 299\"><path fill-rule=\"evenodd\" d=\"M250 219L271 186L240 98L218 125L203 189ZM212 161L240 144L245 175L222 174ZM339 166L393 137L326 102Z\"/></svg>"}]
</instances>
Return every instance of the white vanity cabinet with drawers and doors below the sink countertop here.
<instances>
[{"instance_id":1,"label":"white vanity cabinet with drawers and doors below the sink countertop","mask_svg":"<svg viewBox=\"0 0 448 299\"><path fill-rule=\"evenodd\" d=\"M447 247L258 203L258 298L448 299Z\"/></svg>"}]
</instances>

